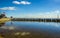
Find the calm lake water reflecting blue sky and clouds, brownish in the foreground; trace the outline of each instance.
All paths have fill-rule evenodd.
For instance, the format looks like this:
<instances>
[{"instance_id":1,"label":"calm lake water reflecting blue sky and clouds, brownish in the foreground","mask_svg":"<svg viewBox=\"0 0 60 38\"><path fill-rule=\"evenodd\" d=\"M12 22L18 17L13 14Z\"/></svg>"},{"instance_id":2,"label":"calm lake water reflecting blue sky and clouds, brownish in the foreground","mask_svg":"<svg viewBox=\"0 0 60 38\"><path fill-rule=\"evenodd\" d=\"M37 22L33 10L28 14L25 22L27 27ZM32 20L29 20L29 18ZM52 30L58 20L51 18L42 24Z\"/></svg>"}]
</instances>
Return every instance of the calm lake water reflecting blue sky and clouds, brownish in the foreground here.
<instances>
[{"instance_id":1,"label":"calm lake water reflecting blue sky and clouds, brownish in the foreground","mask_svg":"<svg viewBox=\"0 0 60 38\"><path fill-rule=\"evenodd\" d=\"M3 38L60 38L60 23L9 21L0 24Z\"/></svg>"}]
</instances>

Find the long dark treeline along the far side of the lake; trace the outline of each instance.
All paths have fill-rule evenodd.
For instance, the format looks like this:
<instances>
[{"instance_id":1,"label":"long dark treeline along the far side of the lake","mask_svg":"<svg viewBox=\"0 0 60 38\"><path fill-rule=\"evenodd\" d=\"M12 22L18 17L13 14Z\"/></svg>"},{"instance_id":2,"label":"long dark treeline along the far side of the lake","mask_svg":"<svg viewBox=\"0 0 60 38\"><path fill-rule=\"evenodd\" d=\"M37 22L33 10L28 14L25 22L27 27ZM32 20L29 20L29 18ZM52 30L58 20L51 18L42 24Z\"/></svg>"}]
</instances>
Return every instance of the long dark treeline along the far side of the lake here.
<instances>
[{"instance_id":1,"label":"long dark treeline along the far side of the lake","mask_svg":"<svg viewBox=\"0 0 60 38\"><path fill-rule=\"evenodd\" d=\"M13 18L12 21L60 22L60 19Z\"/></svg>"}]
</instances>

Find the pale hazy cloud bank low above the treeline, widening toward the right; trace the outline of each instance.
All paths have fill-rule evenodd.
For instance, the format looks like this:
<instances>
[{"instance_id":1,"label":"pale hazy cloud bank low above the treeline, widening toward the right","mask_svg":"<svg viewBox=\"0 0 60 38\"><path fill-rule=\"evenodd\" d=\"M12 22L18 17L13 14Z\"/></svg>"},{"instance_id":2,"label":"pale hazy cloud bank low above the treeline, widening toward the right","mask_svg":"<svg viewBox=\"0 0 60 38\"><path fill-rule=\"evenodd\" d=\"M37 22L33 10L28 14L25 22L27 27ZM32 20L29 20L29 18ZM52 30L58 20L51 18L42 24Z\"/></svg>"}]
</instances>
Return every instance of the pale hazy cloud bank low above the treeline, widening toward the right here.
<instances>
[{"instance_id":1,"label":"pale hazy cloud bank low above the treeline, widening toward the right","mask_svg":"<svg viewBox=\"0 0 60 38\"><path fill-rule=\"evenodd\" d=\"M20 15L21 18L58 18L57 15L59 15L60 18L60 10L53 10L50 12L39 12L39 13L27 13Z\"/></svg>"}]
</instances>

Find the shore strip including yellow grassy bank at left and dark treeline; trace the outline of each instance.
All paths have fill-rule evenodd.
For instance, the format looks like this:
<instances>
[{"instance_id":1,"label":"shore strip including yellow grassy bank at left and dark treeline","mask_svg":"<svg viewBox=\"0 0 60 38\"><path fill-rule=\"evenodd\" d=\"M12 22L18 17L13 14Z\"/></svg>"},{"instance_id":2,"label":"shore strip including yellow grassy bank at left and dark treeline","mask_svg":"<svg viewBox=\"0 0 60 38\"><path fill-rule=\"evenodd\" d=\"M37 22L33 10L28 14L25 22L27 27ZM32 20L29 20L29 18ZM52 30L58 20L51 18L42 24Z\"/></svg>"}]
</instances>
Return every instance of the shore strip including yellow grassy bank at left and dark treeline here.
<instances>
[{"instance_id":1,"label":"shore strip including yellow grassy bank at left and dark treeline","mask_svg":"<svg viewBox=\"0 0 60 38\"><path fill-rule=\"evenodd\" d=\"M42 19L42 18L1 18L0 23L7 21L30 21L30 22L60 22L60 19Z\"/></svg>"}]
</instances>

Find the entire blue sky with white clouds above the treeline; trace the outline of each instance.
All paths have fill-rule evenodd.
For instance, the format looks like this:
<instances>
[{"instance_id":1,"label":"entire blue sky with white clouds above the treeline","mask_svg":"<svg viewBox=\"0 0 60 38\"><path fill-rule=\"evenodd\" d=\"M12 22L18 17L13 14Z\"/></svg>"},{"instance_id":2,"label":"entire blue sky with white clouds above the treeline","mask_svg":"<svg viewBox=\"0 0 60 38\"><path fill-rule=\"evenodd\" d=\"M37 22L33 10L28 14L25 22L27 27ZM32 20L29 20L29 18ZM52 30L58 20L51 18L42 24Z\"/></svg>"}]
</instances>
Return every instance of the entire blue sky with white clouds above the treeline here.
<instances>
[{"instance_id":1,"label":"entire blue sky with white clouds above the treeline","mask_svg":"<svg viewBox=\"0 0 60 38\"><path fill-rule=\"evenodd\" d=\"M0 13L16 18L57 18L60 0L0 0Z\"/></svg>"}]
</instances>

